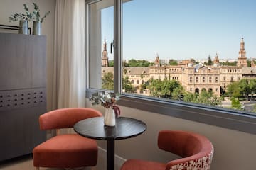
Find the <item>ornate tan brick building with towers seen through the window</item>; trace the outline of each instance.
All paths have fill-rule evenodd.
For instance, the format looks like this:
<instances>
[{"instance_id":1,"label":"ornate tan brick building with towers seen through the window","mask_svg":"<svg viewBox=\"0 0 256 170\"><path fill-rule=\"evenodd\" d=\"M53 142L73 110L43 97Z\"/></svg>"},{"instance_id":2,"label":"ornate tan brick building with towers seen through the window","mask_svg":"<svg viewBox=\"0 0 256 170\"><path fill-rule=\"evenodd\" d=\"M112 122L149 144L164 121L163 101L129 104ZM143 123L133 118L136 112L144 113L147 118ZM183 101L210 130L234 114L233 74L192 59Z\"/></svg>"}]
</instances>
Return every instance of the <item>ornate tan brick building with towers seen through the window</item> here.
<instances>
[{"instance_id":1,"label":"ornate tan brick building with towers seen through the window","mask_svg":"<svg viewBox=\"0 0 256 170\"><path fill-rule=\"evenodd\" d=\"M104 51L103 51L104 52ZM160 63L159 55L156 55L154 65L151 67L124 67L123 77L128 77L132 86L139 88L149 79L169 79L178 81L186 91L201 93L201 91L212 91L220 96L228 84L240 81L240 79L256 79L256 67L252 60L252 67L247 67L245 56L245 42L240 42L240 51L237 66L220 65L216 54L213 65L194 64L192 60L183 60L178 65L166 65ZM103 63L103 57L102 57ZM113 67L102 67L102 75L105 72L113 72ZM143 91L149 95L149 91Z\"/></svg>"}]
</instances>

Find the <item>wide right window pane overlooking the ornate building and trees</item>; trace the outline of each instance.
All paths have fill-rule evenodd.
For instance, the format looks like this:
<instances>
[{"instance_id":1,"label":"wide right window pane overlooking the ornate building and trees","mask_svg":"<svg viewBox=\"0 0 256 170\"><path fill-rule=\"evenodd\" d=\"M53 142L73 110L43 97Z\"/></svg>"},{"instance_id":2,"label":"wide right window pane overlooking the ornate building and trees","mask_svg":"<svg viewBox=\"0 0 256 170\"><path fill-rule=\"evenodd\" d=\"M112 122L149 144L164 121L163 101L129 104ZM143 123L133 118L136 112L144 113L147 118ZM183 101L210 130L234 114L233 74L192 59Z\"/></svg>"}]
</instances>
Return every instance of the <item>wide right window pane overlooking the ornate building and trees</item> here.
<instances>
[{"instance_id":1,"label":"wide right window pane overlooking the ornate building and trees","mask_svg":"<svg viewBox=\"0 0 256 170\"><path fill-rule=\"evenodd\" d=\"M256 112L254 6L123 1L123 92Z\"/></svg>"}]
</instances>

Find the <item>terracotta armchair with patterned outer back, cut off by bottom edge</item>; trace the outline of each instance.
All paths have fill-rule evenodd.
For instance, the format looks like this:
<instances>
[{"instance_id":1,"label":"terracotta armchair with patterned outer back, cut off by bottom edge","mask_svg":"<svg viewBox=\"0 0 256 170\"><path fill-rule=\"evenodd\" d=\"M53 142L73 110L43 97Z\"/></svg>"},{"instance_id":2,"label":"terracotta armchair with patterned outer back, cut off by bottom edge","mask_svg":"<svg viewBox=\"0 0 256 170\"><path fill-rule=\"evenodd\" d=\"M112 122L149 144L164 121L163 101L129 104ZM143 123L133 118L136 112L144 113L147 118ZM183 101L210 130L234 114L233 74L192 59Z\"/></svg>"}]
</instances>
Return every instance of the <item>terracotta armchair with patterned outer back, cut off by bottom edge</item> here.
<instances>
[{"instance_id":1,"label":"terracotta armchair with patterned outer back, cut off by bottom edge","mask_svg":"<svg viewBox=\"0 0 256 170\"><path fill-rule=\"evenodd\" d=\"M162 130L158 146L177 154L181 159L167 163L129 159L121 170L209 170L213 159L213 145L202 135L193 132Z\"/></svg>"}]
</instances>

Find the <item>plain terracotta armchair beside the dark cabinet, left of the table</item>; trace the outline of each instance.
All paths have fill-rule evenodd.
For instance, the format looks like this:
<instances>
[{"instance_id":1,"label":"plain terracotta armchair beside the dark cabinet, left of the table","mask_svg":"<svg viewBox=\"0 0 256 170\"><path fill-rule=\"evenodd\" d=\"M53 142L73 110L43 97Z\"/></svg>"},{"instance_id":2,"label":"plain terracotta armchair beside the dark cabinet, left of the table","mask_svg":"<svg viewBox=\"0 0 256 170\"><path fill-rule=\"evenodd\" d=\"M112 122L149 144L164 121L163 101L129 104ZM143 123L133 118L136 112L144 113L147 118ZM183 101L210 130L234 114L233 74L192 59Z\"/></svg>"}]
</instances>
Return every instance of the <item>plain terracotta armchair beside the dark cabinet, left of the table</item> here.
<instances>
[{"instance_id":1,"label":"plain terracotta armchair beside the dark cabinet, left of the table","mask_svg":"<svg viewBox=\"0 0 256 170\"><path fill-rule=\"evenodd\" d=\"M57 130L57 135L33 149L33 165L75 168L97 164L97 142L78 134L60 135L60 128L73 128L80 120L102 116L92 108L63 108L40 116L41 130Z\"/></svg>"}]
</instances>

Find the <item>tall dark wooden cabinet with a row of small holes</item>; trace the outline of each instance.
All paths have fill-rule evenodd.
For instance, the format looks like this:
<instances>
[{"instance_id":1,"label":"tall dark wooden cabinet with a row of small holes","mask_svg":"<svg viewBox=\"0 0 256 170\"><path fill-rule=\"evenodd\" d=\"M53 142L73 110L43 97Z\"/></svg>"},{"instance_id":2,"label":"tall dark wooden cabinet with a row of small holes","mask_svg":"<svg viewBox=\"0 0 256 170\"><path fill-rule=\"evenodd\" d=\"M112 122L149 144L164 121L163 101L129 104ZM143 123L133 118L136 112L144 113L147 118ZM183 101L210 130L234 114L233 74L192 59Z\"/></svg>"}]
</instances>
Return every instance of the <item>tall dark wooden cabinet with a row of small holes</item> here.
<instances>
[{"instance_id":1,"label":"tall dark wooden cabinet with a row of small holes","mask_svg":"<svg viewBox=\"0 0 256 170\"><path fill-rule=\"evenodd\" d=\"M0 161L46 140L46 36L0 33Z\"/></svg>"}]
</instances>

